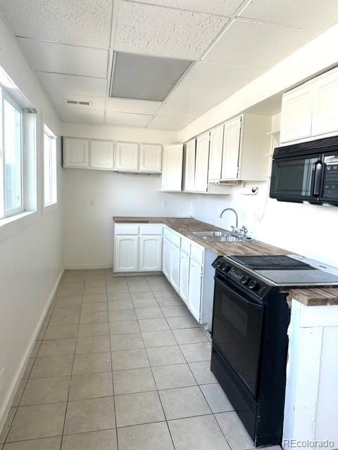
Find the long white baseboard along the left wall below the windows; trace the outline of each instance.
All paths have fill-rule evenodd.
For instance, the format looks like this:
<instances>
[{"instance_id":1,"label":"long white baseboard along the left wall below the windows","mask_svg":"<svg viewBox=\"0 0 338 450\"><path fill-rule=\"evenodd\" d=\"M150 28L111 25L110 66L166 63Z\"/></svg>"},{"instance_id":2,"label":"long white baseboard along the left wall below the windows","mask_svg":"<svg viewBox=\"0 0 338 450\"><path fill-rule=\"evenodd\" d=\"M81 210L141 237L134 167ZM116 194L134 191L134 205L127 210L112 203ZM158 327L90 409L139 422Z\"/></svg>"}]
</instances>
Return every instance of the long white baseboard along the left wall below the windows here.
<instances>
[{"instance_id":1,"label":"long white baseboard along the left wall below the windows","mask_svg":"<svg viewBox=\"0 0 338 450\"><path fill-rule=\"evenodd\" d=\"M37 326L35 327L34 333L32 334L32 338L30 338L30 342L27 345L27 349L25 351L25 354L23 355L23 359L21 360L20 366L18 367L18 371L17 371L15 377L13 378L13 383L11 385L11 389L9 390L8 396L7 396L6 400L4 401L4 405L2 406L2 408L0 410L0 432L4 426L4 422L7 418L8 411L11 409L11 405L13 403L13 398L15 396L15 392L17 391L18 385L21 381L21 378L23 377L23 373L25 372L25 368L27 366L28 359L30 358L30 353L32 352L32 349L35 345L35 341L37 340L37 336L39 335L40 328L42 327L42 323L44 323L44 319L49 310L51 302L54 299L54 295L56 294L56 290L58 289L58 285L61 281L64 271L65 271L65 269L61 269L60 273L58 274L58 278L53 286L53 289L51 290L48 301L46 302L46 306L44 307L44 310L42 311L42 314L37 323Z\"/></svg>"}]
</instances>

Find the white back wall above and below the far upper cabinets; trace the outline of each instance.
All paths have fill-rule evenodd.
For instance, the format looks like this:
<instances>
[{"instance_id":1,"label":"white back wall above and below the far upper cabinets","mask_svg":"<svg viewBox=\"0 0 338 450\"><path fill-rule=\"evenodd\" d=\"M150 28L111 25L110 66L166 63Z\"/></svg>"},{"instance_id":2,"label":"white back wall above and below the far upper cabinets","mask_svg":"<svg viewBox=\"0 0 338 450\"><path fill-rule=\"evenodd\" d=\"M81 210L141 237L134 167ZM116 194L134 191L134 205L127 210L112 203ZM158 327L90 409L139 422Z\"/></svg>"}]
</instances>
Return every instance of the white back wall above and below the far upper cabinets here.
<instances>
[{"instance_id":1,"label":"white back wall above and below the far upper cabinets","mask_svg":"<svg viewBox=\"0 0 338 450\"><path fill-rule=\"evenodd\" d=\"M63 135L148 143L177 141L173 132L81 124L63 124ZM160 189L159 175L63 169L65 266L113 264L113 216L192 214L191 195Z\"/></svg>"}]
</instances>

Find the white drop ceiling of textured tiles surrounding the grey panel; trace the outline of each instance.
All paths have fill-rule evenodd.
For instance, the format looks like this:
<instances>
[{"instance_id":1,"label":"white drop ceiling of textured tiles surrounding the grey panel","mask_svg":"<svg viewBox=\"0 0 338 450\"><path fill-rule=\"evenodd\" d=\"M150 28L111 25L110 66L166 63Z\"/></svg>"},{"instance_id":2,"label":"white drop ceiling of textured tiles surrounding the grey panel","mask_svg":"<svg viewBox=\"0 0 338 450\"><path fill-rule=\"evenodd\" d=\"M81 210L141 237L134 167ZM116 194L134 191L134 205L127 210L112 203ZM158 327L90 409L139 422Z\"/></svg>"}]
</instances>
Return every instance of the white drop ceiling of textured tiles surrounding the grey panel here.
<instances>
[{"instance_id":1,"label":"white drop ceiling of textured tiles surrounding the grey panel","mask_svg":"<svg viewBox=\"0 0 338 450\"><path fill-rule=\"evenodd\" d=\"M63 121L180 130L337 23L338 0L0 0L0 15ZM111 98L114 51L194 63L164 101Z\"/></svg>"}]
</instances>

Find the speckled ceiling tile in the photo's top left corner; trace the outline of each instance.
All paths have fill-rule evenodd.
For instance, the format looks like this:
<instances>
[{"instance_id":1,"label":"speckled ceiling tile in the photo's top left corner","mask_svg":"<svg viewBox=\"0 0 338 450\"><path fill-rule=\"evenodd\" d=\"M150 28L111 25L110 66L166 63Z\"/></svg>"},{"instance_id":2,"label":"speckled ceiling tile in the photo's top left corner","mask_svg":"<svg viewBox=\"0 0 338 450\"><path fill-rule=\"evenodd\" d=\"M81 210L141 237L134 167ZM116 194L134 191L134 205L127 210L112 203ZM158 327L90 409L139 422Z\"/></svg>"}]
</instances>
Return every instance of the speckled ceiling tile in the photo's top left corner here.
<instances>
[{"instance_id":1,"label":"speckled ceiling tile in the photo's top left corner","mask_svg":"<svg viewBox=\"0 0 338 450\"><path fill-rule=\"evenodd\" d=\"M0 0L17 36L106 48L112 6L112 0Z\"/></svg>"}]
</instances>

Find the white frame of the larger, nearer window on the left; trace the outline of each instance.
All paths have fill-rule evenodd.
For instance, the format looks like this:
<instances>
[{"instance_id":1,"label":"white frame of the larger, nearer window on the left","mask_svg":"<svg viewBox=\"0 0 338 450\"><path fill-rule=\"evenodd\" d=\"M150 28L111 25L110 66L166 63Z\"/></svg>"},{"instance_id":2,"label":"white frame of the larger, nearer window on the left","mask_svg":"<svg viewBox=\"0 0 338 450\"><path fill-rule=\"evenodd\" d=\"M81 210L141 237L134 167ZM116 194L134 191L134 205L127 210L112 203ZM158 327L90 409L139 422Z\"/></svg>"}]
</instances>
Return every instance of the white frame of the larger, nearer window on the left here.
<instances>
[{"instance_id":1,"label":"white frame of the larger, nearer window on the left","mask_svg":"<svg viewBox=\"0 0 338 450\"><path fill-rule=\"evenodd\" d=\"M8 217L16 216L17 214L21 214L25 212L25 189L24 189L24 165L23 165L23 107L15 101L15 98L11 96L11 94L8 94L8 91L4 89L0 85L0 98L1 98L1 132L0 132L0 166L1 166L1 187L0 187L0 195L1 195L1 209L0 209L0 220L1 219L8 219ZM4 124L5 124L5 115L4 115L4 105L5 100L10 103L13 108L18 110L20 112L20 196L21 196L21 205L20 207L14 208L13 210L5 210L5 161L6 161L6 155L5 155L5 148L4 148Z\"/></svg>"}]
</instances>

